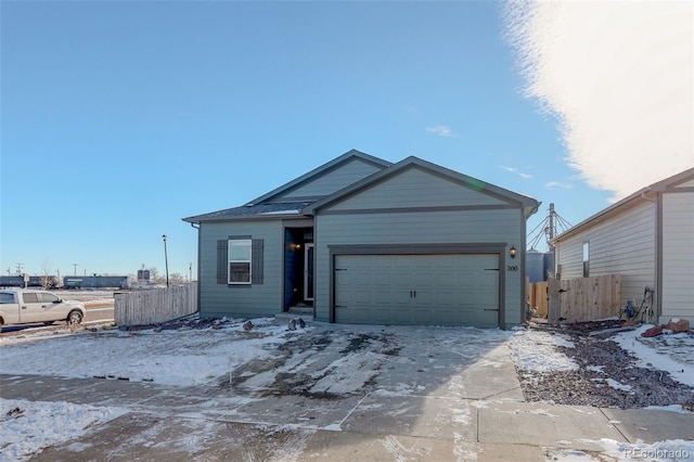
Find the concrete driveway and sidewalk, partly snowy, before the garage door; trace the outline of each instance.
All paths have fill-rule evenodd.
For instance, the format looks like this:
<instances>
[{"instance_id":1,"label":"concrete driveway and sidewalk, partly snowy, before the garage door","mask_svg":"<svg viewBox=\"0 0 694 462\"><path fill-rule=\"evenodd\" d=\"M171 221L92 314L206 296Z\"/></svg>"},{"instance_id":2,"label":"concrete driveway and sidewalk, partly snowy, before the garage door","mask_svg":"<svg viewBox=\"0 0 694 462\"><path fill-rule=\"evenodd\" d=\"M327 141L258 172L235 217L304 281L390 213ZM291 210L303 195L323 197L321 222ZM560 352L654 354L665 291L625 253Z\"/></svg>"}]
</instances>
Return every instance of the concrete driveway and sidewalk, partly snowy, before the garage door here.
<instances>
[{"instance_id":1,"label":"concrete driveway and sidewalk, partly snowy, before the garage door","mask_svg":"<svg viewBox=\"0 0 694 462\"><path fill-rule=\"evenodd\" d=\"M509 336L314 324L204 385L20 374L0 386L4 399L127 410L37 461L537 461L644 439L640 419L689 436L691 415L524 402Z\"/></svg>"}]
</instances>

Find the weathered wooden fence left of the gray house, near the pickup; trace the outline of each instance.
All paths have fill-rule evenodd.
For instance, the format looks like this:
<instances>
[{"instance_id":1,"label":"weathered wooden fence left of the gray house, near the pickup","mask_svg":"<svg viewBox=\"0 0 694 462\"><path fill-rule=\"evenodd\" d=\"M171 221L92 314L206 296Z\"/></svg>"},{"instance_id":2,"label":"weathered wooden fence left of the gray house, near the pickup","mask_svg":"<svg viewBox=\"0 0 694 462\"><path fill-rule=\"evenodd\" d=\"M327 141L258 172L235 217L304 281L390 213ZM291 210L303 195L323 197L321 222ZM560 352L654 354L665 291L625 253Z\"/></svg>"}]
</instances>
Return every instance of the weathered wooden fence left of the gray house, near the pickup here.
<instances>
[{"instance_id":1,"label":"weathered wooden fence left of the gray house, near the pickup","mask_svg":"<svg viewBox=\"0 0 694 462\"><path fill-rule=\"evenodd\" d=\"M114 294L114 319L118 325L158 324L196 311L196 282Z\"/></svg>"}]
</instances>

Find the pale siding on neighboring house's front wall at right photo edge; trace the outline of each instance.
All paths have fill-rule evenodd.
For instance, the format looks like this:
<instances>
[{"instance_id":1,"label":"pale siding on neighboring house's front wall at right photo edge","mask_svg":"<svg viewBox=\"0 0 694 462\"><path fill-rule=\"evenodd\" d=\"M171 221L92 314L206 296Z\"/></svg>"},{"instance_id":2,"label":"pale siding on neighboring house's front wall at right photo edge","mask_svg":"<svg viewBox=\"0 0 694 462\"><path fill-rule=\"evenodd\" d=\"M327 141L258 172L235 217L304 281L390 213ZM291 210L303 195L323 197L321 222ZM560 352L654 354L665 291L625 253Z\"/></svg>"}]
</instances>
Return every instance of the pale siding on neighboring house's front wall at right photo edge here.
<instances>
[{"instance_id":1,"label":"pale siding on neighboring house's front wall at right photo edge","mask_svg":"<svg viewBox=\"0 0 694 462\"><path fill-rule=\"evenodd\" d=\"M663 317L694 320L694 193L663 195Z\"/></svg>"}]
</instances>

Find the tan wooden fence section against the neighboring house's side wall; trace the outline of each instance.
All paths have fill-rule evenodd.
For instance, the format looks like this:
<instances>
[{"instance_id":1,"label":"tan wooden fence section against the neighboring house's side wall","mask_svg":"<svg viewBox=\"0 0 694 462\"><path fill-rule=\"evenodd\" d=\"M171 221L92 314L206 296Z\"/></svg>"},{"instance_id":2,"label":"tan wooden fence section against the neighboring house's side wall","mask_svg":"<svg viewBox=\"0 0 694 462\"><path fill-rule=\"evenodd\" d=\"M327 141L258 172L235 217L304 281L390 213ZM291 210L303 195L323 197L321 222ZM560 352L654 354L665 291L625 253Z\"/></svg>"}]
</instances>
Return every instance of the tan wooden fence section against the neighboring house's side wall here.
<instances>
[{"instance_id":1,"label":"tan wooden fence section against the neighboring house's side wall","mask_svg":"<svg viewBox=\"0 0 694 462\"><path fill-rule=\"evenodd\" d=\"M599 275L580 279L550 279L548 322L584 322L619 317L621 277Z\"/></svg>"}]
</instances>

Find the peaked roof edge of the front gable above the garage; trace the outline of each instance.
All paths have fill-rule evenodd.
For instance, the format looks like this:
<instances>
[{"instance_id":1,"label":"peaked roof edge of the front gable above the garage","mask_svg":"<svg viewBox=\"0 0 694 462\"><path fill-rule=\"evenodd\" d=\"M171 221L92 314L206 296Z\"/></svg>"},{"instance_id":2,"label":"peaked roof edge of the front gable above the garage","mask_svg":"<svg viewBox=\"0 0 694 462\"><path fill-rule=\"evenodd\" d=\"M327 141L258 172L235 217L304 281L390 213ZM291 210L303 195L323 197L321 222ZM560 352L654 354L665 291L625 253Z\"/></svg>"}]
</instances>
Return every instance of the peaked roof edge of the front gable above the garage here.
<instances>
[{"instance_id":1,"label":"peaked roof edge of the front gable above the garage","mask_svg":"<svg viewBox=\"0 0 694 462\"><path fill-rule=\"evenodd\" d=\"M400 161L399 163L394 164L388 168L385 168L376 174L371 175L370 177L364 178L361 181L357 181L356 183L350 184L349 187L340 191L337 191L334 194L331 194L326 197L323 197L319 201L313 202L312 204L304 208L304 214L313 215L316 210L320 208L326 207L346 197L358 194L359 192L365 189L369 189L372 185L377 184L382 181L385 181L388 178L391 178L412 167L419 167L424 170L430 171L434 175L452 180L457 183L460 183L461 185L464 185L466 188L472 188L475 191L478 191L483 194L488 194L501 201L518 204L518 206L523 207L524 215L526 218L535 214L538 210L538 207L540 206L540 203L532 197L505 190L494 184L487 183L486 181L478 180L477 178L473 178L467 175L460 174L454 170L450 170L446 167L441 167L440 165L436 165L430 162L423 161L419 157L409 156Z\"/></svg>"}]
</instances>

